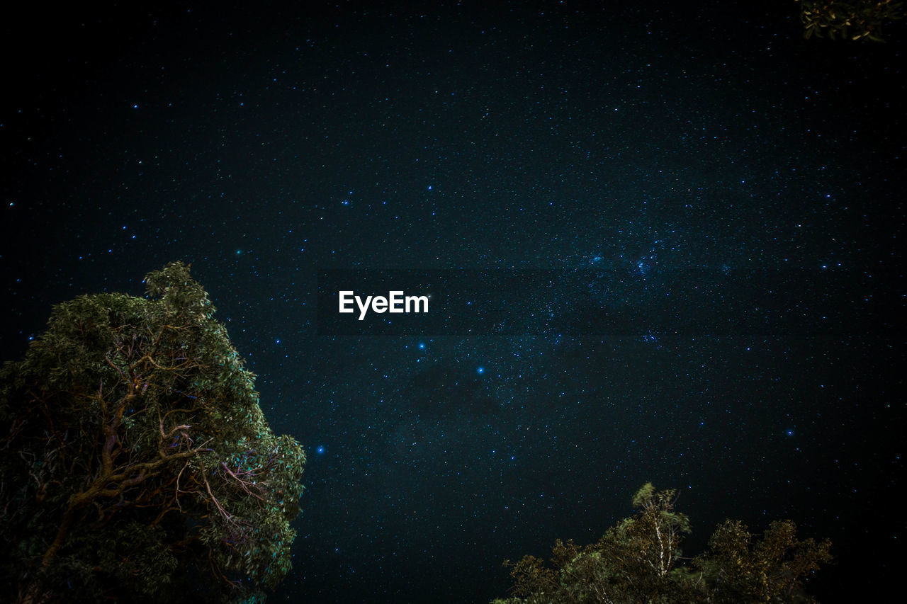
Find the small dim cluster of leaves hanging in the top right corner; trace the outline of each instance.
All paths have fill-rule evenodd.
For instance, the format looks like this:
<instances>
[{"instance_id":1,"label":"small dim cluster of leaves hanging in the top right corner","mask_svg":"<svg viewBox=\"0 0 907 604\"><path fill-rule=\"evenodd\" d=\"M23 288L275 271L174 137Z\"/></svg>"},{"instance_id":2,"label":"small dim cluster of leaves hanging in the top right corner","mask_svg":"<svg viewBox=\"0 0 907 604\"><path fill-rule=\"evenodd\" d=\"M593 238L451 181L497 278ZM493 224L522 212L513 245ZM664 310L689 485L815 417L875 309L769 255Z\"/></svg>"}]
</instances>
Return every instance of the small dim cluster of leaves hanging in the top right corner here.
<instances>
[{"instance_id":1,"label":"small dim cluster of leaves hanging in the top right corner","mask_svg":"<svg viewBox=\"0 0 907 604\"><path fill-rule=\"evenodd\" d=\"M883 24L904 16L901 0L799 0L804 37L884 42Z\"/></svg>"}]
</instances>

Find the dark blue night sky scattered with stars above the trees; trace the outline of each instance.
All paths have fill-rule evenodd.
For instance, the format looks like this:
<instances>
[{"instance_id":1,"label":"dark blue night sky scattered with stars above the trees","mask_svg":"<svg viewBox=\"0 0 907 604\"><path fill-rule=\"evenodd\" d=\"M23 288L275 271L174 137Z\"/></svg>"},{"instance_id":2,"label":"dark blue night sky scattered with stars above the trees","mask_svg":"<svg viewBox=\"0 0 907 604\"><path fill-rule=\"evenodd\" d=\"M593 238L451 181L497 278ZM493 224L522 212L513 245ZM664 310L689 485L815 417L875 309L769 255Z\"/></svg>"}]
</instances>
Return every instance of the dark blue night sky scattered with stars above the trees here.
<instances>
[{"instance_id":1,"label":"dark blue night sky scattered with stars above the trees","mask_svg":"<svg viewBox=\"0 0 907 604\"><path fill-rule=\"evenodd\" d=\"M902 24L124 4L2 24L2 358L51 305L190 262L308 455L274 601L487 602L644 482L680 490L689 553L789 518L834 543L823 601L900 580ZM326 269L510 310L326 335Z\"/></svg>"}]
</instances>

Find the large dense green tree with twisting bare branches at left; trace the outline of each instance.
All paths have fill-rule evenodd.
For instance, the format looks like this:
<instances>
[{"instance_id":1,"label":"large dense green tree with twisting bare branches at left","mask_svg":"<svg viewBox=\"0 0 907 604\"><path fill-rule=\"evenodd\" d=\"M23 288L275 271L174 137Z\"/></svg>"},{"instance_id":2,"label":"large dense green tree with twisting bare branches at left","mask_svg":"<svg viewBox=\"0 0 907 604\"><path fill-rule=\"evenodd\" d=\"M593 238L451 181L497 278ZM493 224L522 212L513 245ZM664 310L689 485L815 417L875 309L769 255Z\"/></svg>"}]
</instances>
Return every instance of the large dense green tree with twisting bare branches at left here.
<instances>
[{"instance_id":1,"label":"large dense green tree with twisting bare branches at left","mask_svg":"<svg viewBox=\"0 0 907 604\"><path fill-rule=\"evenodd\" d=\"M54 307L0 370L0 589L23 602L258 598L306 461L273 434L189 268Z\"/></svg>"}]
</instances>

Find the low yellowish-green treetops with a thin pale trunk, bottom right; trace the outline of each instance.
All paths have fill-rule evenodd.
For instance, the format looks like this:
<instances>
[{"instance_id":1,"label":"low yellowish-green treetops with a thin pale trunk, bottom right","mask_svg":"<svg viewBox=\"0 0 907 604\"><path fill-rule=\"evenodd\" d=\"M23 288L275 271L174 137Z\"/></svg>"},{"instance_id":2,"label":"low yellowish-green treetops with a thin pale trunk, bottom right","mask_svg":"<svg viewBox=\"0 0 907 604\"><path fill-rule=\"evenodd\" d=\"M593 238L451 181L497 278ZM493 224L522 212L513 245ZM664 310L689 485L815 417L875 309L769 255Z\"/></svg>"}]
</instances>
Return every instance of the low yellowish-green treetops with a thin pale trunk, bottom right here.
<instances>
[{"instance_id":1,"label":"low yellowish-green treetops with a thin pale trunk, bottom right","mask_svg":"<svg viewBox=\"0 0 907 604\"><path fill-rule=\"evenodd\" d=\"M726 521L707 553L683 559L680 541L690 527L674 509L677 492L647 483L632 502L634 515L599 541L579 546L558 540L551 566L534 556L505 560L512 596L493 604L805 602L811 600L801 591L803 580L831 560L830 542L798 541L791 521L773 522L755 542L746 526Z\"/></svg>"}]
</instances>

